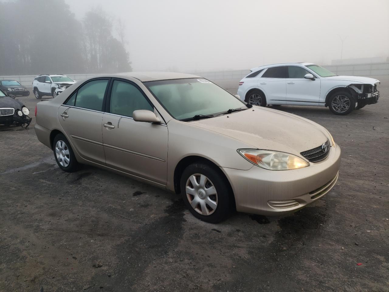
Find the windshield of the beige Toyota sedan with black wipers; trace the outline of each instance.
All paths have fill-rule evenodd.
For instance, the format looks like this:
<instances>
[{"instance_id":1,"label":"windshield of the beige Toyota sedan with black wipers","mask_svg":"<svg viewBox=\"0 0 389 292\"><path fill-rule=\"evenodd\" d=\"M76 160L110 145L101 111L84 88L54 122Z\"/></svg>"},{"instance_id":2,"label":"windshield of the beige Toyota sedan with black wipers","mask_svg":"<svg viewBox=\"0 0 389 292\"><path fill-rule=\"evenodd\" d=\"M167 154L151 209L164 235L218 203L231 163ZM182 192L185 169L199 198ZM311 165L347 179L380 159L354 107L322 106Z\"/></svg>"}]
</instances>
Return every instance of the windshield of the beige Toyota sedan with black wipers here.
<instances>
[{"instance_id":1,"label":"windshield of the beige Toyota sedan with black wipers","mask_svg":"<svg viewBox=\"0 0 389 292\"><path fill-rule=\"evenodd\" d=\"M207 79L171 79L149 81L144 84L177 120L245 107L241 100Z\"/></svg>"}]
</instances>

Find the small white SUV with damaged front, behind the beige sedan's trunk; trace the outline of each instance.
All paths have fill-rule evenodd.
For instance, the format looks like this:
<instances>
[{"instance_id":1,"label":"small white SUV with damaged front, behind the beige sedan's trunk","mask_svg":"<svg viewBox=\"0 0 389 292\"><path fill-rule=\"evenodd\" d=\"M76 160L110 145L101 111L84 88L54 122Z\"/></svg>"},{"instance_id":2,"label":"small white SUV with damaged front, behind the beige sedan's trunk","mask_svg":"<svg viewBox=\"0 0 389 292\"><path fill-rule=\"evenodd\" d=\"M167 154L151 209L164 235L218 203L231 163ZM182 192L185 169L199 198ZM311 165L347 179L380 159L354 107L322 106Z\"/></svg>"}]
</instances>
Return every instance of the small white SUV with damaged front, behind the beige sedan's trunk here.
<instances>
[{"instance_id":1,"label":"small white SUV with damaged front, behind the beige sedan's trunk","mask_svg":"<svg viewBox=\"0 0 389 292\"><path fill-rule=\"evenodd\" d=\"M56 97L58 93L74 84L75 81L63 74L39 75L32 82L32 90L37 99L42 96Z\"/></svg>"}]
</instances>

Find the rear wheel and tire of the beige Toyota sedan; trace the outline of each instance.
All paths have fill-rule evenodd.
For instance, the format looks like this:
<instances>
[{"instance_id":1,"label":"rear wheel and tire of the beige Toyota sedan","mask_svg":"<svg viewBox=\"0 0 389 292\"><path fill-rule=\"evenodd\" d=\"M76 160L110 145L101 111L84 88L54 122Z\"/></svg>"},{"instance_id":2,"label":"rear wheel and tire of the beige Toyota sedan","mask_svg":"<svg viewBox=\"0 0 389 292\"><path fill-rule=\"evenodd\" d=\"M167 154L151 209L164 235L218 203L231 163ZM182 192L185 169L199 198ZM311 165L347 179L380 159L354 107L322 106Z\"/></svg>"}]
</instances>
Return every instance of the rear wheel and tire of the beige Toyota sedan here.
<instances>
[{"instance_id":1,"label":"rear wheel and tire of the beige Toyota sedan","mask_svg":"<svg viewBox=\"0 0 389 292\"><path fill-rule=\"evenodd\" d=\"M75 159L72 147L65 135L58 134L55 136L53 141L53 153L55 161L60 169L65 172L77 171L79 163Z\"/></svg>"}]
</instances>

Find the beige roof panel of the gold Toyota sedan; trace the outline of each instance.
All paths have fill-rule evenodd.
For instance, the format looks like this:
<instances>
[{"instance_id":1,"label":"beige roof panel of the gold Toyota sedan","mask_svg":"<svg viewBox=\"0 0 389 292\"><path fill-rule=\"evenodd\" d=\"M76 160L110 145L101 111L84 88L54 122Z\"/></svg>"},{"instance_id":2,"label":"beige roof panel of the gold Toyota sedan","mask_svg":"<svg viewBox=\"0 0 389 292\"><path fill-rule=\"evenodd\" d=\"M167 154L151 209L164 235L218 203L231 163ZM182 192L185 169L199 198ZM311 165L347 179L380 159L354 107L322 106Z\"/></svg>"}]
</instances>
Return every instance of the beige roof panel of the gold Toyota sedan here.
<instances>
[{"instance_id":1,"label":"beige roof panel of the gold Toyota sedan","mask_svg":"<svg viewBox=\"0 0 389 292\"><path fill-rule=\"evenodd\" d=\"M184 79L184 78L201 78L200 76L177 73L177 72L126 72L112 75L104 75L105 77L133 77L142 82L156 81L156 80L168 80L168 79Z\"/></svg>"}]
</instances>

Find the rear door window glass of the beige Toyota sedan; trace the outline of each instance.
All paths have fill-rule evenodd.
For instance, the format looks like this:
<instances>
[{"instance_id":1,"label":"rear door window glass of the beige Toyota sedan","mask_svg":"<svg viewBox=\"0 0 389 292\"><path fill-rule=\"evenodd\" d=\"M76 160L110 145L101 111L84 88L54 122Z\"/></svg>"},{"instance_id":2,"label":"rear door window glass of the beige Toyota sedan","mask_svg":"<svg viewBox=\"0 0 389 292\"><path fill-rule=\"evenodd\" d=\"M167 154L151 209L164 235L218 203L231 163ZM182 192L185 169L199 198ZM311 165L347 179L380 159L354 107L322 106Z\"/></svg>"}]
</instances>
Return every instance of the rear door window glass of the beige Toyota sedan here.
<instances>
[{"instance_id":1,"label":"rear door window glass of the beige Toyota sedan","mask_svg":"<svg viewBox=\"0 0 389 292\"><path fill-rule=\"evenodd\" d=\"M107 79L100 79L93 80L82 85L77 90L74 105L84 109L101 111L103 108L103 99L107 84ZM68 102L72 99L72 97L68 100Z\"/></svg>"}]
</instances>

